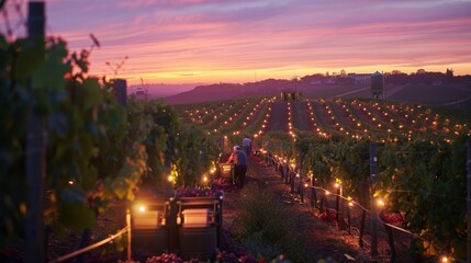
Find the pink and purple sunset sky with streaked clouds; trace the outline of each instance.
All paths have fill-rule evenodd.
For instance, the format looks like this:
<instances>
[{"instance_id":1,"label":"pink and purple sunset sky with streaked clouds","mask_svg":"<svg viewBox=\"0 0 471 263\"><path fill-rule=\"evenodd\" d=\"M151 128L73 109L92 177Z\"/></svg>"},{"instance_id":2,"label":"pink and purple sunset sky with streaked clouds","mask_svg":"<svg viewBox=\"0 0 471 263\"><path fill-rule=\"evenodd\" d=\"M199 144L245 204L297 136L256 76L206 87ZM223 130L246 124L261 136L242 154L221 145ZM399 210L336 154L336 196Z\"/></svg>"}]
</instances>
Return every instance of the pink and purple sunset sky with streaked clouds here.
<instances>
[{"instance_id":1,"label":"pink and purple sunset sky with streaked clouds","mask_svg":"<svg viewBox=\"0 0 471 263\"><path fill-rule=\"evenodd\" d=\"M14 2L26 13L26 1L8 0L10 14ZM46 0L46 13L47 34L71 50L89 48L90 33L99 39L91 73L131 83L249 82L341 69L471 73L471 0ZM126 56L115 76L105 62Z\"/></svg>"}]
</instances>

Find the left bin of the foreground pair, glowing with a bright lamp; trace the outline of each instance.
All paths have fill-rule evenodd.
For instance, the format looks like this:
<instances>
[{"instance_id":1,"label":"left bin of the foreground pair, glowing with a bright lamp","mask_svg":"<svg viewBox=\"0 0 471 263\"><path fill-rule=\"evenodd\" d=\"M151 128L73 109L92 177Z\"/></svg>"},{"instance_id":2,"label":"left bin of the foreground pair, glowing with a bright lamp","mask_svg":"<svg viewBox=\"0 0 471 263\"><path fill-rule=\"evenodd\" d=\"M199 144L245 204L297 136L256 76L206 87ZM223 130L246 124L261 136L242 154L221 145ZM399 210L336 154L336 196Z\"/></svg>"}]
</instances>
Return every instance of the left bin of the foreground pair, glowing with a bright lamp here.
<instances>
[{"instance_id":1,"label":"left bin of the foreground pair, glowing with a bright lamp","mask_svg":"<svg viewBox=\"0 0 471 263\"><path fill-rule=\"evenodd\" d=\"M145 205L142 205L145 204ZM160 254L168 250L168 202L135 202L131 210L132 248Z\"/></svg>"}]
</instances>

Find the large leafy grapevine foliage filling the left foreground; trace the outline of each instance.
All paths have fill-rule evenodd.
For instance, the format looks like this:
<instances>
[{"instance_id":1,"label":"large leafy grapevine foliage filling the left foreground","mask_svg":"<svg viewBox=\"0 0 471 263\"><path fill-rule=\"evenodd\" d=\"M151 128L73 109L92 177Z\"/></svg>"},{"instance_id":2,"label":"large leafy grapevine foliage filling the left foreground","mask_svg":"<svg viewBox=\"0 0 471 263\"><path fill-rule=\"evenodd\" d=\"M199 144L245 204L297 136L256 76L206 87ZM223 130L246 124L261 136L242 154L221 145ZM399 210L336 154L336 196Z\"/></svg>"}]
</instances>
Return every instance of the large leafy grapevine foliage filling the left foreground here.
<instances>
[{"instance_id":1,"label":"large leafy grapevine foliage filling the left foreground","mask_svg":"<svg viewBox=\"0 0 471 263\"><path fill-rule=\"evenodd\" d=\"M58 232L90 228L108 201L132 199L149 170L144 142L160 129L134 101L126 114L115 100L113 82L88 76L89 55L69 55L60 38L31 46L25 39L9 43L0 36L1 247L23 233L29 112L45 122L44 216Z\"/></svg>"}]
</instances>

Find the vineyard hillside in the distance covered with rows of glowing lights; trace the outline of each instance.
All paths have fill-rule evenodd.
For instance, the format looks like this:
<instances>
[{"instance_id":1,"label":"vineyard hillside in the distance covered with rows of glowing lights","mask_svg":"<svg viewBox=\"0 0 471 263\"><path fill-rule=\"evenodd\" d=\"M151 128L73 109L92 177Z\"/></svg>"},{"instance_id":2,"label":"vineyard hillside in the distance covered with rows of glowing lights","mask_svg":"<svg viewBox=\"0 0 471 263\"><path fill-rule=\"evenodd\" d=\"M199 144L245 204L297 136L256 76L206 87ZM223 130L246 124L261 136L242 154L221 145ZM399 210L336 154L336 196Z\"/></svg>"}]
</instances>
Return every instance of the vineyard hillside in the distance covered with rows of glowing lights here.
<instances>
[{"instance_id":1,"label":"vineyard hillside in the distance covered with rows of glowing lights","mask_svg":"<svg viewBox=\"0 0 471 263\"><path fill-rule=\"evenodd\" d=\"M186 123L210 133L262 135L307 132L321 136L393 138L469 134L471 110L365 99L239 99L177 105ZM265 108L265 110L263 110ZM242 125L243 124L243 125Z\"/></svg>"}]
</instances>

